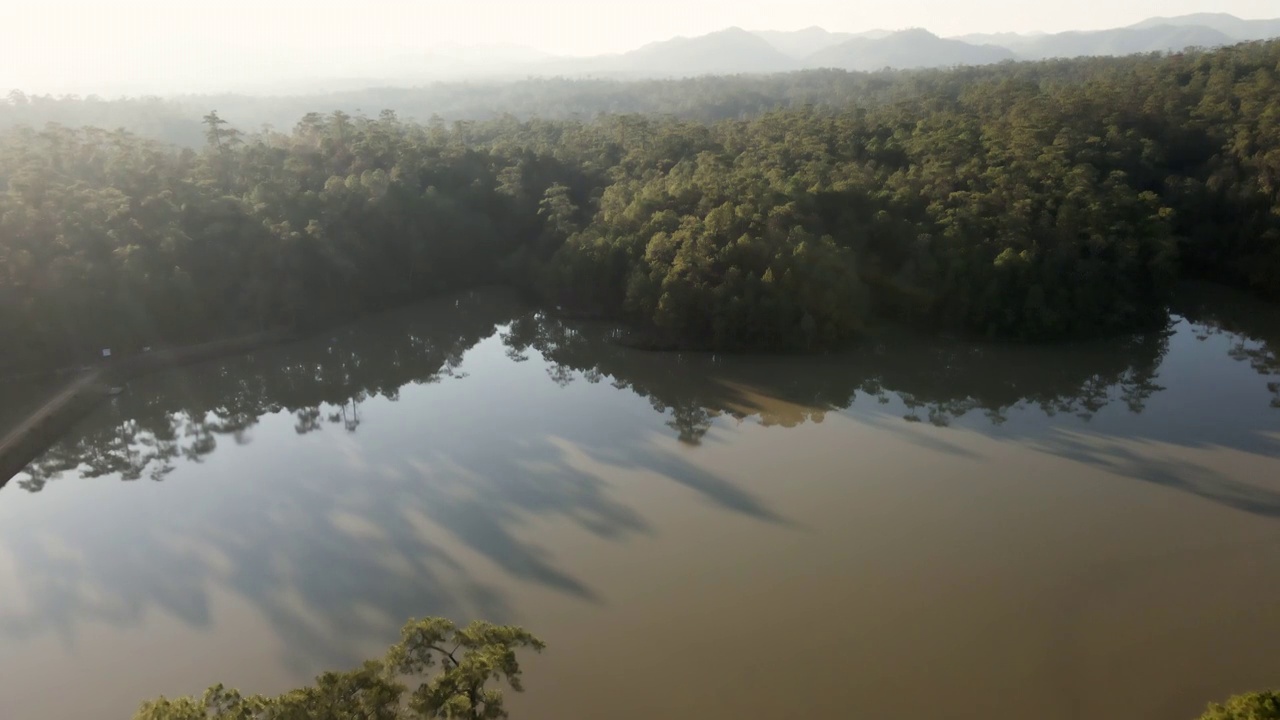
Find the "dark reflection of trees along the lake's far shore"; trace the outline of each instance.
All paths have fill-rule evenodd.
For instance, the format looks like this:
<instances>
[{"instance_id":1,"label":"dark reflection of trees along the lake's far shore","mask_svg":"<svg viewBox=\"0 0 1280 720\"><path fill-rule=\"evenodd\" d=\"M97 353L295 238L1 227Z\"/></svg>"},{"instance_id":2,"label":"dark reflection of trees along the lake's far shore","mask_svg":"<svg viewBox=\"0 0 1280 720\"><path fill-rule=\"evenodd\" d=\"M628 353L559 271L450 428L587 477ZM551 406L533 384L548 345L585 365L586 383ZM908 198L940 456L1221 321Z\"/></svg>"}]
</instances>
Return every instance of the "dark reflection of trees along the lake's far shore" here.
<instances>
[{"instance_id":1,"label":"dark reflection of trees along the lake's far shore","mask_svg":"<svg viewBox=\"0 0 1280 720\"><path fill-rule=\"evenodd\" d=\"M1228 336L1230 355L1268 378L1280 375L1280 323L1235 295L1197 290L1175 309L1199 338ZM763 425L820 423L861 396L906 409L904 419L948 425L983 416L1002 425L1010 411L1089 419L1120 404L1142 413L1162 388L1158 369L1172 322L1160 331L1070 346L1019 346L940 340L882 329L860 347L822 356L657 354L617 342L621 332L522 310L495 293L468 293L372 318L323 338L269 348L205 368L200 382L172 373L146 392L125 392L33 462L17 484L40 491L51 479L119 474L164 479L178 461L200 462L220 438L247 442L266 414L294 415L298 434L326 423L358 432L370 397L398 400L407 384L460 373L462 356L502 332L507 357L536 352L559 386L608 380L646 397L684 443L698 445L717 418ZM1280 382L1268 383L1280 407Z\"/></svg>"}]
</instances>

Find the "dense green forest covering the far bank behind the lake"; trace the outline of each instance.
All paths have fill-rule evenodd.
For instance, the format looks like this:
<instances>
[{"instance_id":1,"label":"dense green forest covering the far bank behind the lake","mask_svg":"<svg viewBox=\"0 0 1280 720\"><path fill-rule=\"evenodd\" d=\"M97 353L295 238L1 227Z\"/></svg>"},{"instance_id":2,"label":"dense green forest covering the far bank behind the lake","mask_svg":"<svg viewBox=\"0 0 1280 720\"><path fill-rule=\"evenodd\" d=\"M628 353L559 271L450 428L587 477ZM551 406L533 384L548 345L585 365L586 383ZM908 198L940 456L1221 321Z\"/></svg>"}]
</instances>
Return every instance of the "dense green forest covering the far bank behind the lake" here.
<instances>
[{"instance_id":1,"label":"dense green forest covering the far bank behind the lake","mask_svg":"<svg viewBox=\"0 0 1280 720\"><path fill-rule=\"evenodd\" d=\"M1160 322L1180 277L1280 297L1280 44L847 77L892 83L823 106L783 81L652 86L780 92L718 122L335 111L250 135L210 113L198 151L15 127L0 368L481 283L731 350L831 347L884 314L1115 333Z\"/></svg>"}]
</instances>

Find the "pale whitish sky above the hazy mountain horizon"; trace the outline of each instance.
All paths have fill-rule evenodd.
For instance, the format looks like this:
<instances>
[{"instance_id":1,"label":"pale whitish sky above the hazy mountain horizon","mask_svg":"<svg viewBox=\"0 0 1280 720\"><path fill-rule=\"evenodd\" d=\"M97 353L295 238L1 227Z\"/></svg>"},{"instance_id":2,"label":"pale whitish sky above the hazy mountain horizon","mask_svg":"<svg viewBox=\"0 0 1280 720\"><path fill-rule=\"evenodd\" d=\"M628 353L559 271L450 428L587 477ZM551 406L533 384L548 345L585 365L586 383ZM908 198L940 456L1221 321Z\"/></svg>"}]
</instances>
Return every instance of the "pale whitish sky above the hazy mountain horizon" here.
<instances>
[{"instance_id":1,"label":"pale whitish sky above the hazy mountain horizon","mask_svg":"<svg viewBox=\"0 0 1280 720\"><path fill-rule=\"evenodd\" d=\"M0 0L0 92L353 77L447 46L591 55L730 26L950 36L1100 29L1203 12L1280 17L1280 0Z\"/></svg>"}]
</instances>

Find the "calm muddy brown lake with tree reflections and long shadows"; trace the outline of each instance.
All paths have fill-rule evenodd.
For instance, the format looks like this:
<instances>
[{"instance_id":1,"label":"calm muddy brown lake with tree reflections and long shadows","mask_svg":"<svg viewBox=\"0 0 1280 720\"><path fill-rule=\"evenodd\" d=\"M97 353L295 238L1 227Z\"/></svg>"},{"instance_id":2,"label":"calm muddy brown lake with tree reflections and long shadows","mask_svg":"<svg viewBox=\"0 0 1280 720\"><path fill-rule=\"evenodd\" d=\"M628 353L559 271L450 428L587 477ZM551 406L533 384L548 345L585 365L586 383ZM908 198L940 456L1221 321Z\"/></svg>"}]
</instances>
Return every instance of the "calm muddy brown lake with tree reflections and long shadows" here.
<instances>
[{"instance_id":1,"label":"calm muddy brown lake with tree reflections and long shadows","mask_svg":"<svg viewBox=\"0 0 1280 720\"><path fill-rule=\"evenodd\" d=\"M1280 310L649 354L497 292L134 380L0 489L0 716L279 692L410 616L516 720L1190 719L1280 685Z\"/></svg>"}]
</instances>

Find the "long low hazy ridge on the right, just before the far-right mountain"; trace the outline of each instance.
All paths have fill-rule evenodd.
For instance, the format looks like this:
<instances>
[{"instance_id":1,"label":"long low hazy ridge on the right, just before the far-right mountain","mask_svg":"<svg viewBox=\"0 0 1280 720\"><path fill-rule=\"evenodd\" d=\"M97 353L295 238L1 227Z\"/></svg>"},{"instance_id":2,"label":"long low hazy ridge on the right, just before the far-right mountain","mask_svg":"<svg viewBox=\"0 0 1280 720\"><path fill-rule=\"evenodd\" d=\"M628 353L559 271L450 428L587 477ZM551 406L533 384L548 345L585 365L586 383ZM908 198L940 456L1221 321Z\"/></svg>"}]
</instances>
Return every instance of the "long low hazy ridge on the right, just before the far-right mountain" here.
<instances>
[{"instance_id":1,"label":"long low hazy ridge on the right, just before the far-right mountain","mask_svg":"<svg viewBox=\"0 0 1280 720\"><path fill-rule=\"evenodd\" d=\"M1137 53L1176 51L1187 47L1217 47L1235 42L1234 37L1203 26L1153 26L1046 35L1036 38L1034 42L1018 47L1018 55L1029 60L1083 55L1133 55Z\"/></svg>"}]
</instances>

